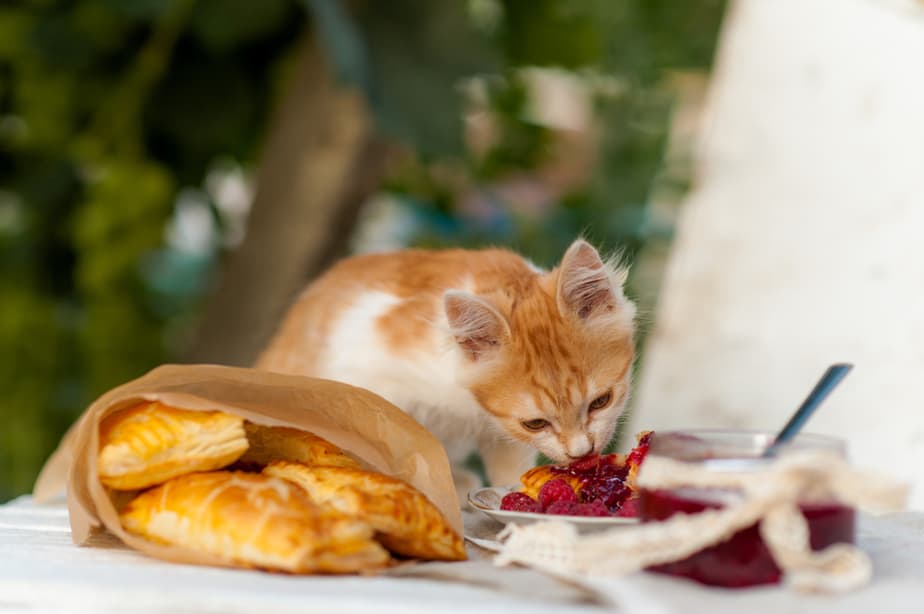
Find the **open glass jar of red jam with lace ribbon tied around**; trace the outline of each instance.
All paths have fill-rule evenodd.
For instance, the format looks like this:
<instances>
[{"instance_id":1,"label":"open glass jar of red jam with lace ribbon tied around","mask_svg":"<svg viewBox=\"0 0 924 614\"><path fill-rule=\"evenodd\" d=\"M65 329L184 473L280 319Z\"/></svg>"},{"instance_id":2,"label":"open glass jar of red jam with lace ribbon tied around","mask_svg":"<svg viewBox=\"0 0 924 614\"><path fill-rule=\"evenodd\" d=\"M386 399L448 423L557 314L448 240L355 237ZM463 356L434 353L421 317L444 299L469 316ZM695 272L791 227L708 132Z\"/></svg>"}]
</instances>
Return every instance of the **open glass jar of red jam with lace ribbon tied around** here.
<instances>
[{"instance_id":1,"label":"open glass jar of red jam with lace ribbon tied around","mask_svg":"<svg viewBox=\"0 0 924 614\"><path fill-rule=\"evenodd\" d=\"M760 458L774 434L758 431L684 430L656 432L648 454L698 463L703 471L757 470L772 459ZM820 435L799 435L790 449L825 449L846 455L843 441ZM785 452L783 452L785 454ZM665 520L677 513L696 514L740 500L741 493L727 489L696 487L645 490L639 493L642 522ZM834 543L853 543L856 513L836 501L803 501L799 504L808 522L813 550ZM683 576L712 586L745 587L775 584L781 572L773 561L757 525L690 557L649 568L649 571Z\"/></svg>"}]
</instances>

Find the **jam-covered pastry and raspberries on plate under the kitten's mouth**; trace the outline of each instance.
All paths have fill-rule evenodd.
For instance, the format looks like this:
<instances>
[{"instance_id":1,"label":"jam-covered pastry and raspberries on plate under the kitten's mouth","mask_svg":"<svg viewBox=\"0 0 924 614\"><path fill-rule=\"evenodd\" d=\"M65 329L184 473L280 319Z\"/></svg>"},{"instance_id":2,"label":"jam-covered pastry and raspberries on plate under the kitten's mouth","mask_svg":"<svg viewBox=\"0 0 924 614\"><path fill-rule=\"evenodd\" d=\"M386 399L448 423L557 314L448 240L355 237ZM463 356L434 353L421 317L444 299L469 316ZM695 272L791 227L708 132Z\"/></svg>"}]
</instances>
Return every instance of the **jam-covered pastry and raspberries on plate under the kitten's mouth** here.
<instances>
[{"instance_id":1,"label":"jam-covered pastry and raspberries on plate under the kitten's mouth","mask_svg":"<svg viewBox=\"0 0 924 614\"><path fill-rule=\"evenodd\" d=\"M645 459L651 431L637 436L628 455L587 456L569 465L543 465L521 478L523 492L509 493L502 510L566 516L636 517L635 476Z\"/></svg>"}]
</instances>

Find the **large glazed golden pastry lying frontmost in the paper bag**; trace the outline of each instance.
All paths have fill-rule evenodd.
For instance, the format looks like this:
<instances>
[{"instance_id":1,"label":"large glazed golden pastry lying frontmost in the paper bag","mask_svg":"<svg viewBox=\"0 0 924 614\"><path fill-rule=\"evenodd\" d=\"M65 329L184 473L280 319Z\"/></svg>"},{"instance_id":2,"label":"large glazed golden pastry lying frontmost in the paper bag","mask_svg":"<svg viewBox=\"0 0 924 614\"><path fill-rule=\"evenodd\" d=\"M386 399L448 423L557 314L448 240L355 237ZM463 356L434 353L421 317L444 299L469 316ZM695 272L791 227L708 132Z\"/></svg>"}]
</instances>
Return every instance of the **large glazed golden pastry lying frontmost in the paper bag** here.
<instances>
[{"instance_id":1,"label":"large glazed golden pastry lying frontmost in the paper bag","mask_svg":"<svg viewBox=\"0 0 924 614\"><path fill-rule=\"evenodd\" d=\"M390 560L368 524L323 510L291 482L259 474L174 478L139 495L119 518L130 533L228 565L351 573Z\"/></svg>"}]
</instances>

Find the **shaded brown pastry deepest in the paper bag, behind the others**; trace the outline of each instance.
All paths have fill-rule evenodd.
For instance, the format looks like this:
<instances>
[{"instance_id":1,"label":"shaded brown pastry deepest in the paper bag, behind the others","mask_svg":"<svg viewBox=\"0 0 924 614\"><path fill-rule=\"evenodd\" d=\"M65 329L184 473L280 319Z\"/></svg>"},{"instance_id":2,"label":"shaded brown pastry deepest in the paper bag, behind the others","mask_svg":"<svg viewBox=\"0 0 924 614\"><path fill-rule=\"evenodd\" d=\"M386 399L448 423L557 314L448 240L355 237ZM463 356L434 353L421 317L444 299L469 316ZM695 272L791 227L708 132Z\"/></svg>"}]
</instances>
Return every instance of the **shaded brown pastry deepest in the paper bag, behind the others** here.
<instances>
[{"instance_id":1,"label":"shaded brown pastry deepest in the paper bag, behind the others","mask_svg":"<svg viewBox=\"0 0 924 614\"><path fill-rule=\"evenodd\" d=\"M287 460L306 465L351 467L360 469L353 457L317 435L284 426L244 424L250 448L241 462L265 467L274 460Z\"/></svg>"}]
</instances>

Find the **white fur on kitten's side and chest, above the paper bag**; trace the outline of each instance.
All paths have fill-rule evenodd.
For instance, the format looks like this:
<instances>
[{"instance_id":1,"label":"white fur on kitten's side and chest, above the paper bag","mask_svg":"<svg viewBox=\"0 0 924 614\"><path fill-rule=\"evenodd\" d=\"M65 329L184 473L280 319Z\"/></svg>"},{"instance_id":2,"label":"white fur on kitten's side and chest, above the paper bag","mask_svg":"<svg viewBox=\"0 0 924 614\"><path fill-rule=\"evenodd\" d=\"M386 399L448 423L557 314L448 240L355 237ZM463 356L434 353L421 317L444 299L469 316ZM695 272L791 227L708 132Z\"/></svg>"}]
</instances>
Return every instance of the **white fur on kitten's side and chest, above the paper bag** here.
<instances>
[{"instance_id":1,"label":"white fur on kitten's side and chest, above the paper bag","mask_svg":"<svg viewBox=\"0 0 924 614\"><path fill-rule=\"evenodd\" d=\"M444 445L451 460L464 459L489 427L491 417L456 381L455 348L431 339L413 354L389 347L376 320L401 299L364 292L334 323L317 375L371 390L413 416Z\"/></svg>"}]
</instances>

